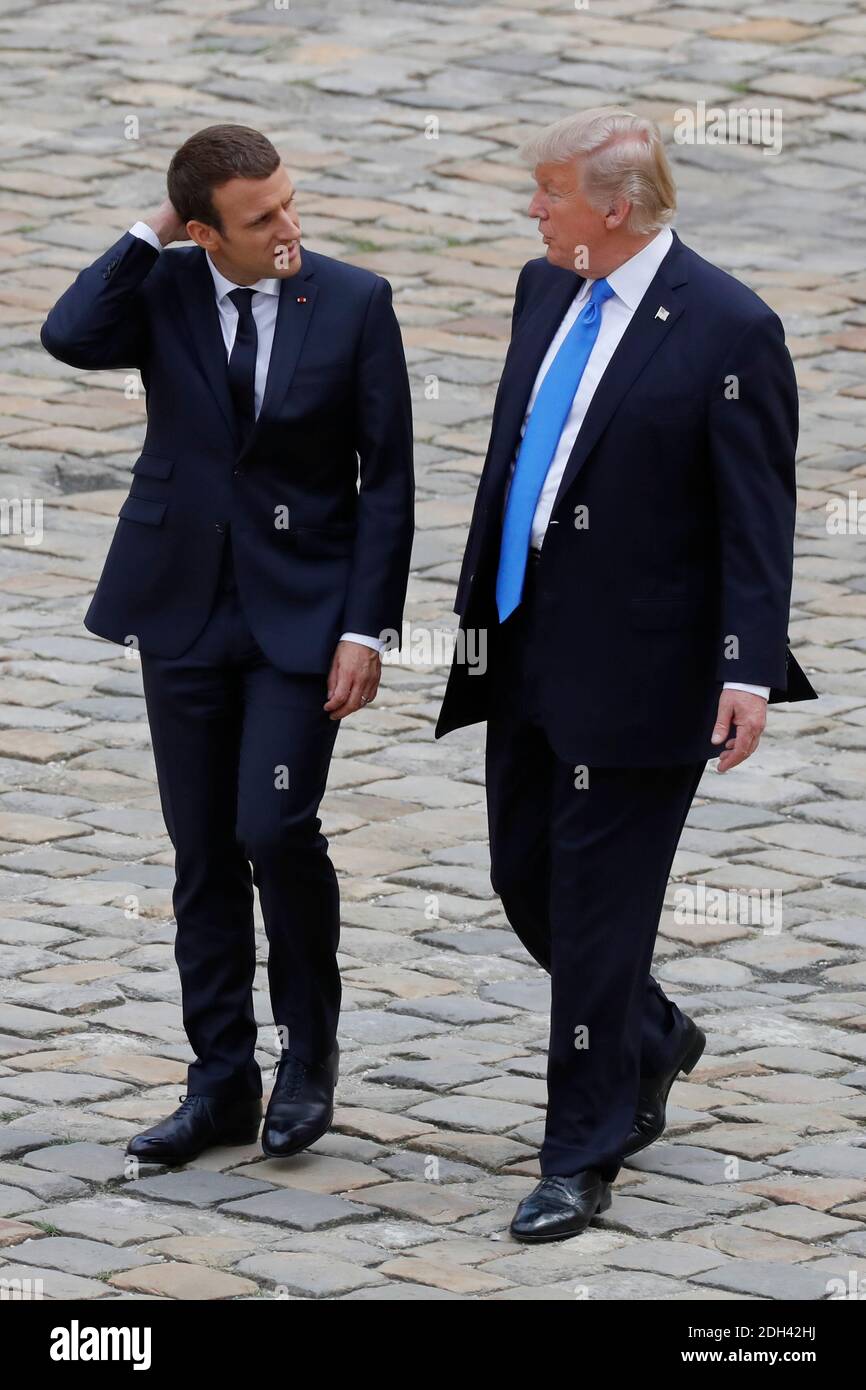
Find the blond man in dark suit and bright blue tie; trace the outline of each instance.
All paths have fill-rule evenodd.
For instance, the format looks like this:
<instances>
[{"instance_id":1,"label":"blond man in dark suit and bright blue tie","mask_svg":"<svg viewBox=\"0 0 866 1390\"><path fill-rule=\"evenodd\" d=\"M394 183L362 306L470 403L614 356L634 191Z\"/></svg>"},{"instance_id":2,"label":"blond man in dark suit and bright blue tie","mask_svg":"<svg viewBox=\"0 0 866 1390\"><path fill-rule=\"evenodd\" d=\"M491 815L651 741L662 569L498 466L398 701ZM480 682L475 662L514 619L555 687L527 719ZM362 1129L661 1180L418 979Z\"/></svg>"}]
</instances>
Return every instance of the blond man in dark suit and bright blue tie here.
<instances>
[{"instance_id":1,"label":"blond man in dark suit and bright blue tie","mask_svg":"<svg viewBox=\"0 0 866 1390\"><path fill-rule=\"evenodd\" d=\"M578 1234L664 1129L705 1036L651 974L706 762L810 699L788 649L798 399L781 322L669 225L652 121L605 107L523 152L545 256L517 281L436 737L487 720L491 880L550 973L524 1241ZM457 644L457 651L461 644Z\"/></svg>"}]
</instances>

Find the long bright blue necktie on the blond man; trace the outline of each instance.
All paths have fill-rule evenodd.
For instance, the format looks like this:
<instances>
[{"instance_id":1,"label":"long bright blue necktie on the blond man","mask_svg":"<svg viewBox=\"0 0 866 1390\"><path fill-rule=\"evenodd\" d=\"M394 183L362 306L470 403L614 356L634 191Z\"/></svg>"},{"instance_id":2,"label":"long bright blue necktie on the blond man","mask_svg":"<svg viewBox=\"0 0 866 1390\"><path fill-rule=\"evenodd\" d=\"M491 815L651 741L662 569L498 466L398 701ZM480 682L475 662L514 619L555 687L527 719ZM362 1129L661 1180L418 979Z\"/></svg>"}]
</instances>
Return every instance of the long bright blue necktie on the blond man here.
<instances>
[{"instance_id":1,"label":"long bright blue necktie on the blond man","mask_svg":"<svg viewBox=\"0 0 866 1390\"><path fill-rule=\"evenodd\" d=\"M595 281L588 302L571 324L545 374L523 432L505 509L496 573L496 607L500 623L505 623L520 603L538 498L602 325L602 304L612 295L613 289L606 279Z\"/></svg>"}]
</instances>

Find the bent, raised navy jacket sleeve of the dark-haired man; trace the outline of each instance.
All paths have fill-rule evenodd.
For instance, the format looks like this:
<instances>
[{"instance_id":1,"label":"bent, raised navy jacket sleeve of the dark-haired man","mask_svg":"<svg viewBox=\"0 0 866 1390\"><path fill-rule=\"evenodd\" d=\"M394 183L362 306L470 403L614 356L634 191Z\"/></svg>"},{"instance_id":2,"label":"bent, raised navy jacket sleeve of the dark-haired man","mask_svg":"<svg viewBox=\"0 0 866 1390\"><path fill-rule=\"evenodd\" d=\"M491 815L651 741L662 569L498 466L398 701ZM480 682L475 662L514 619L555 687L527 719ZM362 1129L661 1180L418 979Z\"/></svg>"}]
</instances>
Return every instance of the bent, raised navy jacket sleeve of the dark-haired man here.
<instances>
[{"instance_id":1,"label":"bent, raised navy jacket sleeve of the dark-haired man","mask_svg":"<svg viewBox=\"0 0 866 1390\"><path fill-rule=\"evenodd\" d=\"M39 334L46 352L90 371L140 368L149 339L143 285L158 259L156 247L125 232L49 313Z\"/></svg>"}]
</instances>

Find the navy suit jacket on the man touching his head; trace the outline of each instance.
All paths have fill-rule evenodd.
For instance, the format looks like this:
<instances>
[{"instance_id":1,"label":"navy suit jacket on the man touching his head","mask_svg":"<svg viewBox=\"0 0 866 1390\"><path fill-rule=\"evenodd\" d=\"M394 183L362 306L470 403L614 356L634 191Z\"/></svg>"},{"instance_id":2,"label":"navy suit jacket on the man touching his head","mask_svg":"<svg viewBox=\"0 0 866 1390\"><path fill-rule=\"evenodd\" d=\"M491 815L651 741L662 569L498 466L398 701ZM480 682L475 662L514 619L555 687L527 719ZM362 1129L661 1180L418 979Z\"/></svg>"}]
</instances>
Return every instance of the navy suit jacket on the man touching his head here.
<instances>
[{"instance_id":1,"label":"navy suit jacket on the man touching his head","mask_svg":"<svg viewBox=\"0 0 866 1390\"><path fill-rule=\"evenodd\" d=\"M302 247L243 446L200 247L160 253L126 232L61 296L42 343L74 367L136 367L147 392L92 632L179 656L209 617L229 527L245 616L278 669L327 671L343 631L400 630L411 404L388 281Z\"/></svg>"}]
</instances>

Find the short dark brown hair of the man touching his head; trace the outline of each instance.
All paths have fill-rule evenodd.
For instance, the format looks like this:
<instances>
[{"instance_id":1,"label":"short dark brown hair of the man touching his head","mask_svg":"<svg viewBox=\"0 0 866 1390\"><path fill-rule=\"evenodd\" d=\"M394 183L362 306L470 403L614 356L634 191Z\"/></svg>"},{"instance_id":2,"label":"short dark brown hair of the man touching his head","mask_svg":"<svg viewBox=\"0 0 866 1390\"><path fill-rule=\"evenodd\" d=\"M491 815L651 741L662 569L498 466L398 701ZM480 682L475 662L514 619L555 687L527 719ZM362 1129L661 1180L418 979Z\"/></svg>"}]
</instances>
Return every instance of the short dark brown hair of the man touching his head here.
<instances>
[{"instance_id":1,"label":"short dark brown hair of the man touching his head","mask_svg":"<svg viewBox=\"0 0 866 1390\"><path fill-rule=\"evenodd\" d=\"M182 222L195 218L222 232L214 189L232 178L268 178L278 167L279 154L260 131L209 125L175 152L168 165L168 197Z\"/></svg>"}]
</instances>

